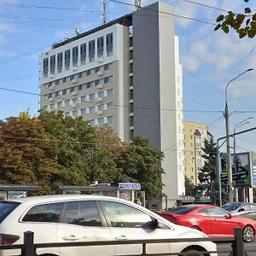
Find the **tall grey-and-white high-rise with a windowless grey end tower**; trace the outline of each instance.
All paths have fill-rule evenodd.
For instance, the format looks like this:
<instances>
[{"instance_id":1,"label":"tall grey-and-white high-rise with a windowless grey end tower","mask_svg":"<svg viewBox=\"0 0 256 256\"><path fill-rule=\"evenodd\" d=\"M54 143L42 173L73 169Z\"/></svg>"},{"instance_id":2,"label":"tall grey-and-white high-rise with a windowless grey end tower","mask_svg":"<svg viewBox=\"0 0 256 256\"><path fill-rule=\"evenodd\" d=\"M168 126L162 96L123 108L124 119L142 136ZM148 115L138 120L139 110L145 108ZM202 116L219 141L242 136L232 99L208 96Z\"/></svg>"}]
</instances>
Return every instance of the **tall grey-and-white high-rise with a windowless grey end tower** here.
<instances>
[{"instance_id":1,"label":"tall grey-and-white high-rise with a windowless grey end tower","mask_svg":"<svg viewBox=\"0 0 256 256\"><path fill-rule=\"evenodd\" d=\"M40 106L164 151L163 193L184 194L183 90L172 7L154 3L41 55Z\"/></svg>"}]
</instances>

